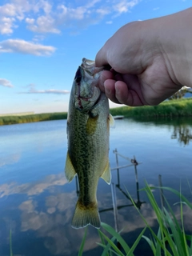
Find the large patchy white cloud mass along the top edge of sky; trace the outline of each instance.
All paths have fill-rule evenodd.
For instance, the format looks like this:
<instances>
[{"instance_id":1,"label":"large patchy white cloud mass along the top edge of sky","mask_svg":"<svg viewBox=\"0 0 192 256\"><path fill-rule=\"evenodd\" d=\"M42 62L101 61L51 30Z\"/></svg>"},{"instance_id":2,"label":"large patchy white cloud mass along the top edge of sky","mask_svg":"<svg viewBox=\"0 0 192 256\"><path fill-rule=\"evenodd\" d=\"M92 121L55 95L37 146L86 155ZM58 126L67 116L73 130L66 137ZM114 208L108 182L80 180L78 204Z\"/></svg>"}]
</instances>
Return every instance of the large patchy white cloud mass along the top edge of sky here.
<instances>
[{"instance_id":1,"label":"large patchy white cloud mass along the top edge of sky","mask_svg":"<svg viewBox=\"0 0 192 256\"><path fill-rule=\"evenodd\" d=\"M140 1L112 0L109 4L101 0L86 0L81 6L74 6L72 2L9 0L0 6L0 34L12 34L21 22L26 22L28 30L41 34L58 34L62 27L78 30L79 27L96 24L104 17L115 18L126 13Z\"/></svg>"}]
</instances>

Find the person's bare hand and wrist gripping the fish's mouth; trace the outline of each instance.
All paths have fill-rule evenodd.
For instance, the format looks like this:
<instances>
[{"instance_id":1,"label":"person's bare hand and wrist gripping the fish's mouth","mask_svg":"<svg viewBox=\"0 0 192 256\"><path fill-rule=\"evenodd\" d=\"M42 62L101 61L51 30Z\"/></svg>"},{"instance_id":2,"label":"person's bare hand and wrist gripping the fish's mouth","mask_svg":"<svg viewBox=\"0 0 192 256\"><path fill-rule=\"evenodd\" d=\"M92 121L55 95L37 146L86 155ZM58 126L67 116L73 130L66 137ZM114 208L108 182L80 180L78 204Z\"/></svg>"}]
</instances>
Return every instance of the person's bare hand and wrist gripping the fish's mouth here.
<instances>
[{"instance_id":1,"label":"person's bare hand and wrist gripping the fish's mouth","mask_svg":"<svg viewBox=\"0 0 192 256\"><path fill-rule=\"evenodd\" d=\"M110 65L112 70L102 71L98 86L111 101L129 106L158 105L182 86L191 86L192 56L187 56L186 49L192 52L192 34L190 43L185 43L178 33L185 34L188 21L184 18L182 24L178 17L187 16L184 12L191 14L192 9L126 24L99 50L96 66Z\"/></svg>"}]
</instances>

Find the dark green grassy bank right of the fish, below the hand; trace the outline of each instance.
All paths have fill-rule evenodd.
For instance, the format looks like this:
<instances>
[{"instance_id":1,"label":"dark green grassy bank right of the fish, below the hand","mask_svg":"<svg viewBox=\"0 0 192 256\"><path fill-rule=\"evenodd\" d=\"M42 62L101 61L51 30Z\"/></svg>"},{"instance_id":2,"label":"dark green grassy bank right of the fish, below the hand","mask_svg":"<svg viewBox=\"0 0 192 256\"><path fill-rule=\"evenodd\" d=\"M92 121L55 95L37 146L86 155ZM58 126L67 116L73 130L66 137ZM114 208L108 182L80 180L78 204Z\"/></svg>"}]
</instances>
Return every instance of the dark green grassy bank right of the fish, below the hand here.
<instances>
[{"instance_id":1,"label":"dark green grassy bank right of the fish, below the hand","mask_svg":"<svg viewBox=\"0 0 192 256\"><path fill-rule=\"evenodd\" d=\"M192 98L166 101L158 106L122 106L110 109L110 114L123 115L126 118L192 116Z\"/></svg>"}]
</instances>

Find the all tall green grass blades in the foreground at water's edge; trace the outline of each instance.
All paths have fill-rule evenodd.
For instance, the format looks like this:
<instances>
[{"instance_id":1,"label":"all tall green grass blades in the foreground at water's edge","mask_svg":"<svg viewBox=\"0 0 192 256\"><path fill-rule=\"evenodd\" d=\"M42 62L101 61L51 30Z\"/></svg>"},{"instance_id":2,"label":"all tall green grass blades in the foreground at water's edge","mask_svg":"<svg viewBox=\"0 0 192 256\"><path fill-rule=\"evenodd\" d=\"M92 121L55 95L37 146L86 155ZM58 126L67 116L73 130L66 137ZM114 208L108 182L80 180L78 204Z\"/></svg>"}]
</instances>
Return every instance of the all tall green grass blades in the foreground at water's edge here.
<instances>
[{"instance_id":1,"label":"all tall green grass blades in the foreground at water's edge","mask_svg":"<svg viewBox=\"0 0 192 256\"><path fill-rule=\"evenodd\" d=\"M103 252L102 256L108 255L120 255L120 256L134 256L134 250L137 246L139 246L139 242L141 239L145 239L148 242L151 251L154 256L191 256L192 255L192 235L186 234L184 229L183 222L183 205L186 205L192 210L192 204L177 190L173 190L168 187L162 187L163 190L170 190L172 193L178 195L179 205L180 205L180 221L175 217L173 210L170 207L170 204L167 202L166 198L166 207L161 209L158 206L154 198L154 194L152 190L157 189L157 187L150 187L146 183L146 187L143 189L147 197L149 198L150 205L152 206L154 213L156 214L156 218L158 221L158 232L154 233L154 230L150 227L150 225L146 222L146 219L142 216L137 206L134 204L134 200L132 203L135 206L135 209L138 210L143 222L145 223L145 228L142 230L141 234L138 235L138 238L135 240L134 244L130 247L127 242L122 238L121 232L116 232L111 226L106 223L102 223L102 229L107 232L107 235L103 233L102 230L98 230L99 237L101 242L98 244L102 246ZM129 194L130 196L130 194ZM146 230L150 230L150 238L144 235ZM112 238L109 238L111 237ZM83 246L85 244L86 237L83 238ZM120 246L117 246L117 243ZM119 248L122 248L121 250ZM79 250L80 251L80 250ZM81 246L81 256L83 252L83 248Z\"/></svg>"}]
</instances>

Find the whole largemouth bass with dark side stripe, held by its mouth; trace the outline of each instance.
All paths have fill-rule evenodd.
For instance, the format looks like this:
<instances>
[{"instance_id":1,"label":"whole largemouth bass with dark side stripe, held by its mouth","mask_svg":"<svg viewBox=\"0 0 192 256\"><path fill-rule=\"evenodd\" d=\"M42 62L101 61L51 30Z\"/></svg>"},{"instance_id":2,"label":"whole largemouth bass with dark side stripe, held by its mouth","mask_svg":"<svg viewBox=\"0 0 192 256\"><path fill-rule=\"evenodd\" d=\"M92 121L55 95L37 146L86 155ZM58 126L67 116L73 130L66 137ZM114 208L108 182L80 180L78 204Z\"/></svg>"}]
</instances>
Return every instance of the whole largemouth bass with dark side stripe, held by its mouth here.
<instances>
[{"instance_id":1,"label":"whole largemouth bass with dark side stripe, held by its mouth","mask_svg":"<svg viewBox=\"0 0 192 256\"><path fill-rule=\"evenodd\" d=\"M100 228L98 180L103 178L109 185L111 182L109 136L114 119L106 94L97 86L104 69L82 58L70 92L65 174L68 182L78 175L79 195L71 224L75 229L87 225Z\"/></svg>"}]
</instances>

